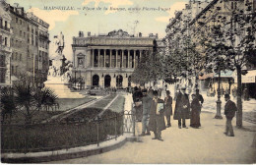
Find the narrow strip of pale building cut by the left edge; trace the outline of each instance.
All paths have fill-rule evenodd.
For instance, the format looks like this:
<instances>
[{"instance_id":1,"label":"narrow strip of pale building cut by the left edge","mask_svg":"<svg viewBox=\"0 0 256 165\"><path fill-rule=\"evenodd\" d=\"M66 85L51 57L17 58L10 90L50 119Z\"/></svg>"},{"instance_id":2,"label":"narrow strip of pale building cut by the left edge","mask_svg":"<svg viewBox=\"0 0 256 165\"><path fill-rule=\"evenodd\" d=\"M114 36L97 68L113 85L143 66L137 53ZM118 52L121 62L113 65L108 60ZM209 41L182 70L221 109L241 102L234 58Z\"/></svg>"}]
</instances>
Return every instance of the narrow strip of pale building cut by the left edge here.
<instances>
[{"instance_id":1,"label":"narrow strip of pale building cut by the left edge","mask_svg":"<svg viewBox=\"0 0 256 165\"><path fill-rule=\"evenodd\" d=\"M12 54L9 5L0 0L0 86L11 84L10 59Z\"/></svg>"}]
</instances>

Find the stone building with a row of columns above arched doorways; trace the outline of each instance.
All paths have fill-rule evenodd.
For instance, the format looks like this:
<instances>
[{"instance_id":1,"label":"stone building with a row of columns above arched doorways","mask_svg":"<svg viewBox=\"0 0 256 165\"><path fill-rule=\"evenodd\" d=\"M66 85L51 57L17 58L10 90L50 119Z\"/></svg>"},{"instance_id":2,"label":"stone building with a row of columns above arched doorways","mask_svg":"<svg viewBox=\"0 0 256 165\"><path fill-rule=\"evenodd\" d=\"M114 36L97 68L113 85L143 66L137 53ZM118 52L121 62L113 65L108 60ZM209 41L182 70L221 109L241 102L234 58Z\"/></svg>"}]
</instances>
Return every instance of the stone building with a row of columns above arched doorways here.
<instances>
[{"instance_id":1,"label":"stone building with a row of columns above arched doorways","mask_svg":"<svg viewBox=\"0 0 256 165\"><path fill-rule=\"evenodd\" d=\"M87 86L130 86L131 75L140 59L154 48L158 35L129 35L122 29L108 34L73 37L73 77L83 78Z\"/></svg>"}]
</instances>

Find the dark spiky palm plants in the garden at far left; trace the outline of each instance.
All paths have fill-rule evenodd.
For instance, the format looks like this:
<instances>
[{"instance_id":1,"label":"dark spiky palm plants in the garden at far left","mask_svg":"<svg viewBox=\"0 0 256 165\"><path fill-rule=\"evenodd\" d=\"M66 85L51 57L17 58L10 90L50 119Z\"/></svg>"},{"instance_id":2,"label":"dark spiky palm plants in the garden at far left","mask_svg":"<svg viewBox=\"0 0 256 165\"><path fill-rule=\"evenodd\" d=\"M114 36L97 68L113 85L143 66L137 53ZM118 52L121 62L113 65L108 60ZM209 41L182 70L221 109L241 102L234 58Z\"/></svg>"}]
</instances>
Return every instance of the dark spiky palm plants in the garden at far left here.
<instances>
[{"instance_id":1,"label":"dark spiky palm plants in the garden at far left","mask_svg":"<svg viewBox=\"0 0 256 165\"><path fill-rule=\"evenodd\" d=\"M30 77L22 75L20 82L1 93L2 112L5 112L2 114L20 111L25 117L26 124L31 124L34 114L43 107L55 106L56 100L57 95L51 89L36 87Z\"/></svg>"}]
</instances>

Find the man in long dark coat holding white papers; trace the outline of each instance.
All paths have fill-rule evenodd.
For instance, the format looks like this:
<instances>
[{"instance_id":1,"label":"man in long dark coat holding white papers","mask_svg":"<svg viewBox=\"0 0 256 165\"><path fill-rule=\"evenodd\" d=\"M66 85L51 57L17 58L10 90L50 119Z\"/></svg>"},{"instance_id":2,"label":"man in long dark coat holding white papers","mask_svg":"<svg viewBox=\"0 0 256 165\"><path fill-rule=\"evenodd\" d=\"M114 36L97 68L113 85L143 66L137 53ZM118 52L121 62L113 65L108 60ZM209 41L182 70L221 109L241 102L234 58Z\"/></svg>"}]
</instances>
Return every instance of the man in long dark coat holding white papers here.
<instances>
[{"instance_id":1,"label":"man in long dark coat holding white papers","mask_svg":"<svg viewBox=\"0 0 256 165\"><path fill-rule=\"evenodd\" d=\"M155 138L152 139L159 139L161 138L161 131L165 130L165 122L164 122L164 108L163 104L164 101L159 98L158 91L153 91L153 101L151 104L151 111L150 111L150 123L149 129L150 131L154 132Z\"/></svg>"}]
</instances>

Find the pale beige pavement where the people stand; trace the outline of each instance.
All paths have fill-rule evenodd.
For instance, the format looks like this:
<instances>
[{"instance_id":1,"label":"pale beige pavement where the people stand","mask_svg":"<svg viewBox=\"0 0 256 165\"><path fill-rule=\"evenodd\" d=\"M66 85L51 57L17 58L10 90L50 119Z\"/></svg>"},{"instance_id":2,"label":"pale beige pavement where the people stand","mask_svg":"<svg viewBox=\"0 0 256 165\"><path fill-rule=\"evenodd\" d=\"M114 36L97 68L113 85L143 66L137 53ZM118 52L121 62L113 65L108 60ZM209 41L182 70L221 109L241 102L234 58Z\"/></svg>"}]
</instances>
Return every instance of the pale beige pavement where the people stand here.
<instances>
[{"instance_id":1,"label":"pale beige pavement where the people stand","mask_svg":"<svg viewBox=\"0 0 256 165\"><path fill-rule=\"evenodd\" d=\"M255 163L256 147L252 147L252 142L256 125L243 122L245 129L233 127L235 137L225 137L225 119L214 117L215 113L203 112L201 129L178 129L177 121L172 120L172 127L162 132L164 141L153 140L152 135L99 155L48 163ZM189 126L189 120L186 122ZM141 123L137 125L140 129Z\"/></svg>"}]
</instances>

